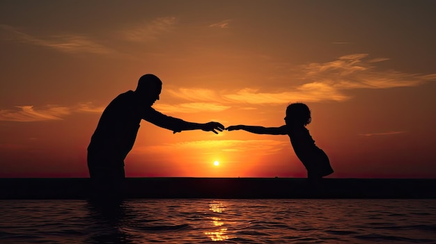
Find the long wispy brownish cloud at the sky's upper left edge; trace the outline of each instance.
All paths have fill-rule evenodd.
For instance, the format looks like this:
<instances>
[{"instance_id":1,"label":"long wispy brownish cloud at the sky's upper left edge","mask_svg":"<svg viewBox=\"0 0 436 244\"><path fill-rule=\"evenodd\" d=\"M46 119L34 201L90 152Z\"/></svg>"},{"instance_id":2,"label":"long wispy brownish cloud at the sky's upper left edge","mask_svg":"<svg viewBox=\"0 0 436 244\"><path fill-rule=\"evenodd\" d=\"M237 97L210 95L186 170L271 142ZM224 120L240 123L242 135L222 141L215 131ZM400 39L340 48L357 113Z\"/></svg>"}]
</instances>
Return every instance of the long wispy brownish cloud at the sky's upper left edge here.
<instances>
[{"instance_id":1,"label":"long wispy brownish cloud at the sky's upper left edge","mask_svg":"<svg viewBox=\"0 0 436 244\"><path fill-rule=\"evenodd\" d=\"M29 43L40 47L48 47L68 53L110 54L113 50L91 40L86 35L52 35L47 38L36 38L13 26L0 24L0 29L8 32L7 40Z\"/></svg>"}]
</instances>

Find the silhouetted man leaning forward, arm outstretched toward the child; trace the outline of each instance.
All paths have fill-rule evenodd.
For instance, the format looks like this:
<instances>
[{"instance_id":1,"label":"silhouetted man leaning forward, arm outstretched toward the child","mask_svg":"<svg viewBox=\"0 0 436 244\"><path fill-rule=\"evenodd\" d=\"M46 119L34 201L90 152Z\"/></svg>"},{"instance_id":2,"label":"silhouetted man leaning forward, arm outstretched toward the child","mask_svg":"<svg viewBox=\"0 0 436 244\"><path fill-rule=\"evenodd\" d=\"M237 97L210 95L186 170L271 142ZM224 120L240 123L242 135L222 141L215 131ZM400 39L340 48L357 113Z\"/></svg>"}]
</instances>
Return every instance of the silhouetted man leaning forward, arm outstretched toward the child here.
<instances>
[{"instance_id":1,"label":"silhouetted man leaning forward, arm outstretched toward the child","mask_svg":"<svg viewBox=\"0 0 436 244\"><path fill-rule=\"evenodd\" d=\"M124 159L134 145L141 120L174 133L194 129L223 131L224 126L218 122L186 122L155 111L151 106L159 100L161 90L162 81L153 74L145 74L136 90L118 95L104 109L88 146L91 179L114 182L125 178Z\"/></svg>"}]
</instances>

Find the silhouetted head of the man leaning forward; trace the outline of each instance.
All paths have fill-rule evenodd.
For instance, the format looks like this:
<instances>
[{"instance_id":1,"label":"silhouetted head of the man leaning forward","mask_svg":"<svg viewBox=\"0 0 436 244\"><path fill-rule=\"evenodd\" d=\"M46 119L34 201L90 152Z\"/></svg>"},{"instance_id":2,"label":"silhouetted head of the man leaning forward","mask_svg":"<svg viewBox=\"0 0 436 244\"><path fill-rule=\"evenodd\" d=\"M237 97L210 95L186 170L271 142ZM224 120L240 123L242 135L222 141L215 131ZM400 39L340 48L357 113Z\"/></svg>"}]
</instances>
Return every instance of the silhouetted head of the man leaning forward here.
<instances>
[{"instance_id":1,"label":"silhouetted head of the man leaning forward","mask_svg":"<svg viewBox=\"0 0 436 244\"><path fill-rule=\"evenodd\" d=\"M143 105L151 106L156 100L159 100L159 94L162 90L162 81L154 74L144 74L139 78L137 90L139 99Z\"/></svg>"}]
</instances>

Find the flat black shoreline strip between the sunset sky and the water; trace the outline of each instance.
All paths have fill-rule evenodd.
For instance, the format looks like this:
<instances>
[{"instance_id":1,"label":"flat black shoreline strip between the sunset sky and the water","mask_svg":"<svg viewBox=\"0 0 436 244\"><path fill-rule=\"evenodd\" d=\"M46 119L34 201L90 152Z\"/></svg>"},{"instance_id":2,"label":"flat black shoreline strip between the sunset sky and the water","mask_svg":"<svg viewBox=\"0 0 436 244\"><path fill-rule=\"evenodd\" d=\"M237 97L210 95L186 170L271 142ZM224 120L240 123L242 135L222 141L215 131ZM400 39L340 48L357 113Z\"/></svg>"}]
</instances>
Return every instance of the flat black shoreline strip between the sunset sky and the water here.
<instances>
[{"instance_id":1,"label":"flat black shoreline strip between the sunset sky and the water","mask_svg":"<svg viewBox=\"0 0 436 244\"><path fill-rule=\"evenodd\" d=\"M0 200L88 199L87 178L0 178ZM123 198L436 198L436 179L127 178Z\"/></svg>"}]
</instances>

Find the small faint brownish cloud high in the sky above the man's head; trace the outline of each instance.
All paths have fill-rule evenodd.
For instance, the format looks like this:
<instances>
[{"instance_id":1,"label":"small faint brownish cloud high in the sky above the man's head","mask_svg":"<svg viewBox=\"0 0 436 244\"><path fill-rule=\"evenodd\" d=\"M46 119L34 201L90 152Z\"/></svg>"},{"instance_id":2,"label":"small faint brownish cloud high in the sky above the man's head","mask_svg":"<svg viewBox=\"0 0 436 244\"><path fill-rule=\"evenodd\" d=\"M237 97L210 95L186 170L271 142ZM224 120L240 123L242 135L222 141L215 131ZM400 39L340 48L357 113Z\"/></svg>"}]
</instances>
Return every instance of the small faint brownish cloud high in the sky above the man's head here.
<instances>
[{"instance_id":1,"label":"small faint brownish cloud high in the sky above the man's head","mask_svg":"<svg viewBox=\"0 0 436 244\"><path fill-rule=\"evenodd\" d=\"M159 17L151 22L143 22L132 28L127 28L122 33L126 40L134 42L150 41L171 31L176 23L176 17Z\"/></svg>"}]
</instances>

